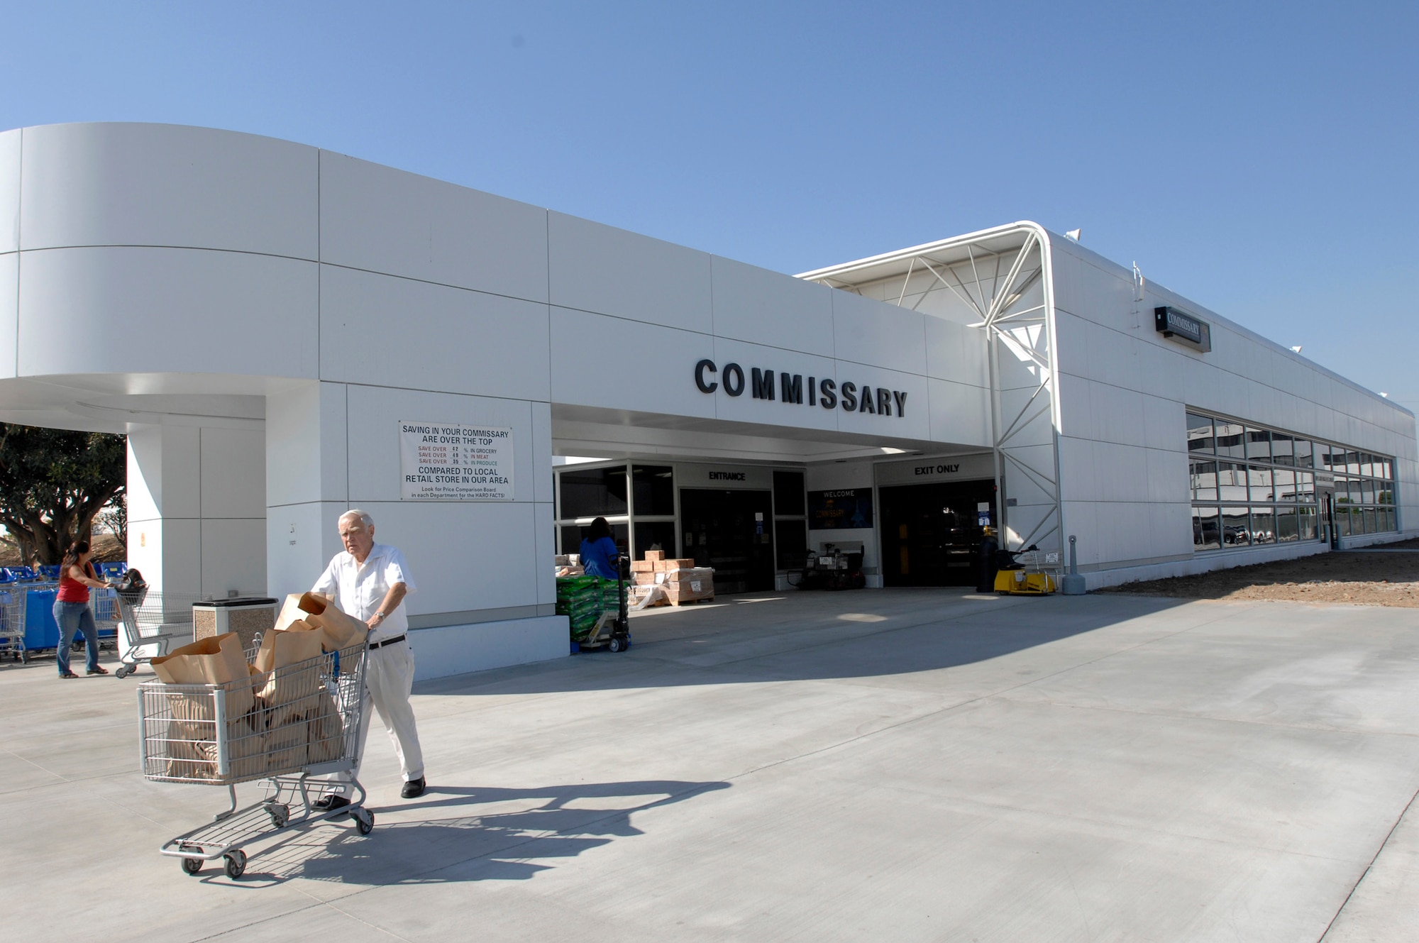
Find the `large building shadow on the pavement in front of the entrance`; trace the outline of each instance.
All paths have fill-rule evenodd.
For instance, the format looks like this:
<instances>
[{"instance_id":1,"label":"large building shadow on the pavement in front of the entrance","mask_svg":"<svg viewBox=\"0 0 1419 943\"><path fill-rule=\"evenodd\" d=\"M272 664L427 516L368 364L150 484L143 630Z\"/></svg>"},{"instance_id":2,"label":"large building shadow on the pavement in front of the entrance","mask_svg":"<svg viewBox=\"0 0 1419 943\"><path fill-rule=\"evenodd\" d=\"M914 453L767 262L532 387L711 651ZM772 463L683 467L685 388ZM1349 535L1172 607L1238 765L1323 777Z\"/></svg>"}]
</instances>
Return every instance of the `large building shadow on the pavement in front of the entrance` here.
<instances>
[{"instance_id":1,"label":"large building shadow on the pavement in front of the entrance","mask_svg":"<svg viewBox=\"0 0 1419 943\"><path fill-rule=\"evenodd\" d=\"M721 596L637 614L629 652L420 682L419 694L868 677L983 662L1185 605L1142 596L986 596L871 589ZM414 636L417 652L417 635Z\"/></svg>"}]
</instances>

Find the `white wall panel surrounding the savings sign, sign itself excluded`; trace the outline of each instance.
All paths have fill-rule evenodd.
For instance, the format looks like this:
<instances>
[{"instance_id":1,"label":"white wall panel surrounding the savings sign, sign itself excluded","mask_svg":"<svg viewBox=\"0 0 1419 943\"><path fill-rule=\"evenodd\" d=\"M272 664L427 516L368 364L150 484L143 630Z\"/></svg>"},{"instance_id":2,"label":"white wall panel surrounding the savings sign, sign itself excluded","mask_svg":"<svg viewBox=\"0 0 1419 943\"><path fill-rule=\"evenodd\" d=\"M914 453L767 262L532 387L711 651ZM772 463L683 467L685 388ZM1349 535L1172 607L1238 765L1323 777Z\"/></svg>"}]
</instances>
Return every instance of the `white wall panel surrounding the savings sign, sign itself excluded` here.
<instances>
[{"instance_id":1,"label":"white wall panel surrounding the savings sign, sign itself excluded","mask_svg":"<svg viewBox=\"0 0 1419 943\"><path fill-rule=\"evenodd\" d=\"M514 501L531 503L535 498L538 469L534 467L532 462L532 409L526 400L352 383L349 388L349 500L352 504L400 501L400 422L467 423L512 429ZM545 469L545 473L551 473L551 466ZM481 506L487 501L403 501L397 506L423 504L463 507L465 504Z\"/></svg>"}]
</instances>

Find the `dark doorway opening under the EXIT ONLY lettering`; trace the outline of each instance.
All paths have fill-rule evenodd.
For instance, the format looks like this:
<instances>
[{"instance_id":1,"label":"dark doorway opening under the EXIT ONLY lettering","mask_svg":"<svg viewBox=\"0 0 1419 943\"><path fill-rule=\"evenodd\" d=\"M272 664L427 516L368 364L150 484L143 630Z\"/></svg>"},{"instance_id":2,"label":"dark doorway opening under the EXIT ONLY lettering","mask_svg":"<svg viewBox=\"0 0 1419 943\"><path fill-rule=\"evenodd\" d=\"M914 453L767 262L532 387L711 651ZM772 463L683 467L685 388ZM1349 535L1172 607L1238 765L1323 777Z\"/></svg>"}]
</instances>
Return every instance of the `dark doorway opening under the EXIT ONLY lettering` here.
<instances>
[{"instance_id":1,"label":"dark doorway opening under the EXIT ONLY lettering","mask_svg":"<svg viewBox=\"0 0 1419 943\"><path fill-rule=\"evenodd\" d=\"M995 481L905 484L878 490L883 585L973 587L982 528L978 508L995 520Z\"/></svg>"}]
</instances>

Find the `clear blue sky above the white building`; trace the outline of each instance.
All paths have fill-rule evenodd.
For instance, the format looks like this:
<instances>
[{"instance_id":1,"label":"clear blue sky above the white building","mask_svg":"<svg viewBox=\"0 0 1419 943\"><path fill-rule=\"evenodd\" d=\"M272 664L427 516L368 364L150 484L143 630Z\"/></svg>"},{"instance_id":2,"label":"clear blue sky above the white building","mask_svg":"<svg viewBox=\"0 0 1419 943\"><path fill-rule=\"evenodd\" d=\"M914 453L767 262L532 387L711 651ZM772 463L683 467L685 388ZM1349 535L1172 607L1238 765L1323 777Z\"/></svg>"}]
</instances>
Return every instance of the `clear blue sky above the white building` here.
<instances>
[{"instance_id":1,"label":"clear blue sky above the white building","mask_svg":"<svg viewBox=\"0 0 1419 943\"><path fill-rule=\"evenodd\" d=\"M1419 4L13 3L0 128L319 145L795 273L986 226L1419 409Z\"/></svg>"}]
</instances>

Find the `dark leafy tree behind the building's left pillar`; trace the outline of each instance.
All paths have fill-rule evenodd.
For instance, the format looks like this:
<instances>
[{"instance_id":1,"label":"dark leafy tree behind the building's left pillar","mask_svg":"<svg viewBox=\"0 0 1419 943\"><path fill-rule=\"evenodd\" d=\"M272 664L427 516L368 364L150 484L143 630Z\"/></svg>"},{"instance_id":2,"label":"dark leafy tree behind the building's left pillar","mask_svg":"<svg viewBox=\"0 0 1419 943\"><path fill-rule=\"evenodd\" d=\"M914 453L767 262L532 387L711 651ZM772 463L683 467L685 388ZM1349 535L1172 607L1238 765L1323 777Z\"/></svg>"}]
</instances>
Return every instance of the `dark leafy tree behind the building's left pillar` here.
<instances>
[{"instance_id":1,"label":"dark leafy tree behind the building's left pillar","mask_svg":"<svg viewBox=\"0 0 1419 943\"><path fill-rule=\"evenodd\" d=\"M26 562L57 564L125 494L123 436L0 423L0 524Z\"/></svg>"}]
</instances>

